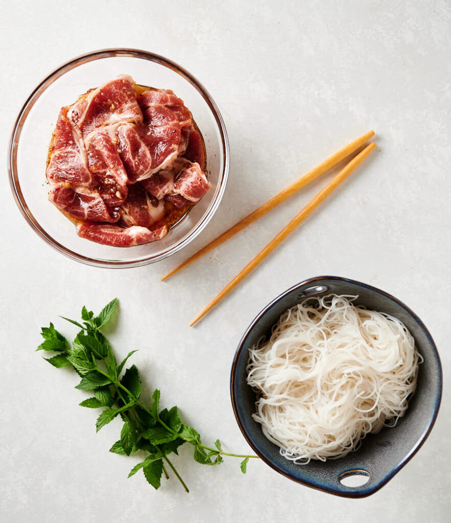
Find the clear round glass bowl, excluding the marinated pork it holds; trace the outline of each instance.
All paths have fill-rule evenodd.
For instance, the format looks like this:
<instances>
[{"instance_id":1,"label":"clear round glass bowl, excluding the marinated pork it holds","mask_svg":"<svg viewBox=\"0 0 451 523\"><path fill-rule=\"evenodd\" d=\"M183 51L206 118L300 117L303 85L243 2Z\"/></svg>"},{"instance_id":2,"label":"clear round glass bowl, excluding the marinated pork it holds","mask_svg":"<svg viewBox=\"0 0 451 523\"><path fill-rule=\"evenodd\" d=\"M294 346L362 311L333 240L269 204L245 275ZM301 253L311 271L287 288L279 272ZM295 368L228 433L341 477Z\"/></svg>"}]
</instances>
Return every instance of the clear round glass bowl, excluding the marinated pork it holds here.
<instances>
[{"instance_id":1,"label":"clear round glass bowl, excluding the marinated pork it holds","mask_svg":"<svg viewBox=\"0 0 451 523\"><path fill-rule=\"evenodd\" d=\"M137 84L172 89L193 113L205 141L212 187L162 240L136 247L100 245L76 235L75 226L48 200L48 147L61 107L120 74ZM136 267L188 245L211 220L224 194L229 167L227 132L205 87L180 65L136 49L104 49L61 65L34 89L14 125L9 144L10 184L21 213L39 236L70 258L100 267Z\"/></svg>"}]
</instances>

